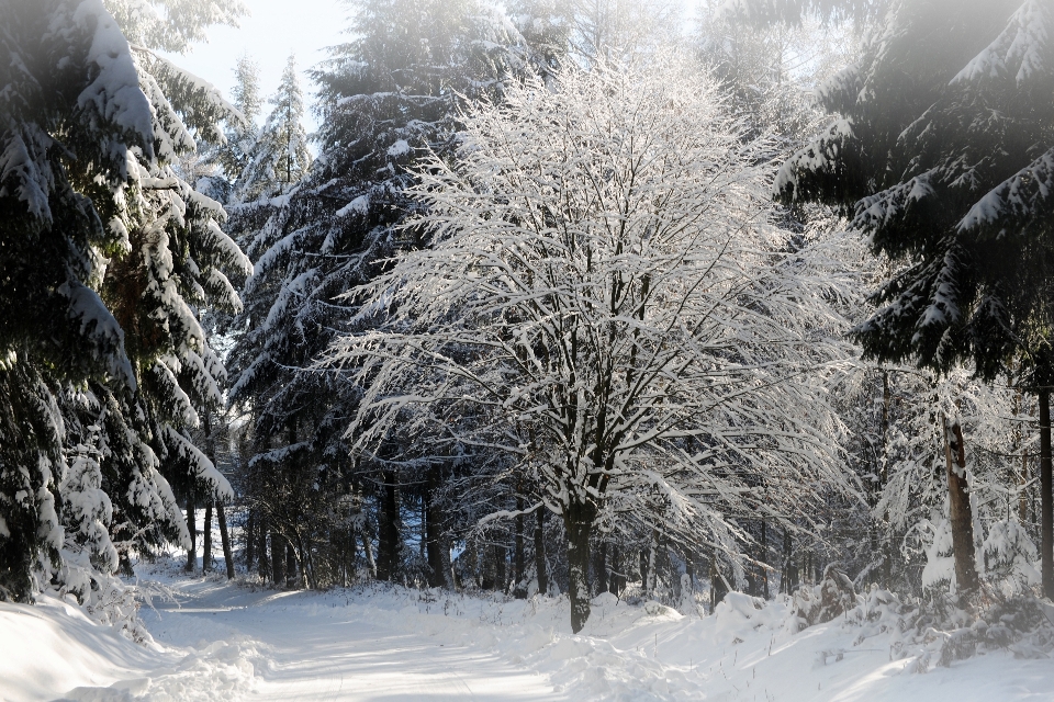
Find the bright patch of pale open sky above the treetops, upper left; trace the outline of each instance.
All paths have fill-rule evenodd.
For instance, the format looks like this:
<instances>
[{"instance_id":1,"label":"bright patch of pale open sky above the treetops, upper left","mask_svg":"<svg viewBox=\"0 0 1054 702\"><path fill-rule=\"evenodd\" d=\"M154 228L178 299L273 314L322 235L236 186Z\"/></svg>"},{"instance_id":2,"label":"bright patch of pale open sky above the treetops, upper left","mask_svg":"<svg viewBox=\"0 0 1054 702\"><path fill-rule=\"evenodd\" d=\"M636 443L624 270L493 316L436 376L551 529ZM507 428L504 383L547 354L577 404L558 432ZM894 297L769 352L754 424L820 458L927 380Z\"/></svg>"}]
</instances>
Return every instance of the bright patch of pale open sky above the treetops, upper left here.
<instances>
[{"instance_id":1,"label":"bright patch of pale open sky above the treetops, upper left","mask_svg":"<svg viewBox=\"0 0 1054 702\"><path fill-rule=\"evenodd\" d=\"M251 13L237 29L212 27L208 44L199 44L182 56L169 56L181 68L203 78L227 98L234 86L234 64L247 53L260 67L260 91L265 100L278 88L285 59L296 55L309 105L314 86L305 71L326 58L325 47L347 41L347 9L339 0L244 0ZM267 105L264 107L265 114ZM307 115L309 131L315 121Z\"/></svg>"}]
</instances>

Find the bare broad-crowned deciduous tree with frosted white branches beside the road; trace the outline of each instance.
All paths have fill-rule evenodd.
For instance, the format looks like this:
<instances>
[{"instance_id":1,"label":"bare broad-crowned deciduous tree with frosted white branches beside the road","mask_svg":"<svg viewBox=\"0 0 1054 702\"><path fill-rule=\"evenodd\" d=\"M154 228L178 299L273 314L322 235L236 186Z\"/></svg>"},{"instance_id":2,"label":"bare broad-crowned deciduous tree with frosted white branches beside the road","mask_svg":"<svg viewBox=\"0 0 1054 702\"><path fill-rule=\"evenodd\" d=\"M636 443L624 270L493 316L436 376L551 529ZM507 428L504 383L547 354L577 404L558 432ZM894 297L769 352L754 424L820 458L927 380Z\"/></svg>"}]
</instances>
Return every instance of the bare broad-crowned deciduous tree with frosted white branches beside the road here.
<instances>
[{"instance_id":1,"label":"bare broad-crowned deciduous tree with frosted white branches beside the road","mask_svg":"<svg viewBox=\"0 0 1054 702\"><path fill-rule=\"evenodd\" d=\"M804 512L807 485L844 485L821 389L836 279L780 252L767 145L688 73L569 66L467 114L458 158L413 190L428 246L355 291L378 329L329 356L361 367L359 451L439 406L528 466L530 509L563 521L575 631L599 523L738 554L737 517L786 518L770 494Z\"/></svg>"}]
</instances>

